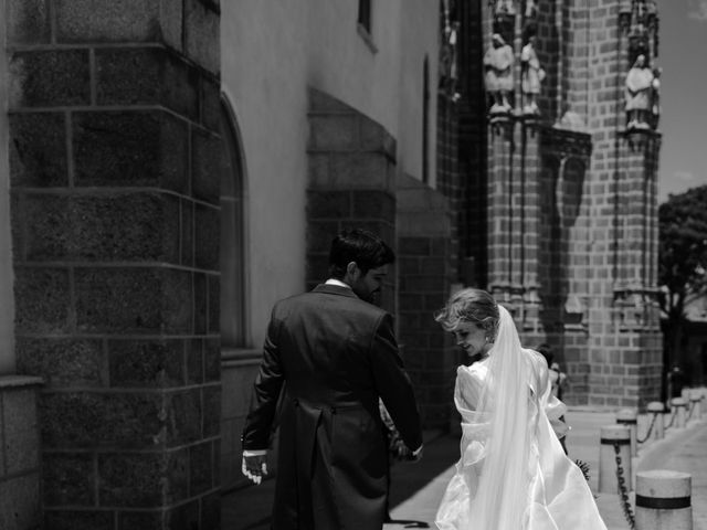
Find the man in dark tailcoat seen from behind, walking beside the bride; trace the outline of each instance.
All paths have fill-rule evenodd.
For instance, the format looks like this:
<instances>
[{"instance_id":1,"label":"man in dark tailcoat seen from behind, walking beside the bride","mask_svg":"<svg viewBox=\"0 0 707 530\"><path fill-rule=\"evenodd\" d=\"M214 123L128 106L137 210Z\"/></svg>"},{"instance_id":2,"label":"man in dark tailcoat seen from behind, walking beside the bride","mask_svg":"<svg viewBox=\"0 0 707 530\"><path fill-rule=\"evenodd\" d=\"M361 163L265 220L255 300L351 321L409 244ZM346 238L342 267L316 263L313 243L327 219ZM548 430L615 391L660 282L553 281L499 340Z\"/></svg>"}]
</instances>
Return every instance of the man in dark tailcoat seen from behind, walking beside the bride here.
<instances>
[{"instance_id":1,"label":"man in dark tailcoat seen from behind, walking beside the bride","mask_svg":"<svg viewBox=\"0 0 707 530\"><path fill-rule=\"evenodd\" d=\"M260 484L282 390L273 530L382 528L389 467L379 398L412 459L421 457L393 320L372 304L394 258L380 237L342 232L330 278L273 308L242 436L243 473Z\"/></svg>"}]
</instances>

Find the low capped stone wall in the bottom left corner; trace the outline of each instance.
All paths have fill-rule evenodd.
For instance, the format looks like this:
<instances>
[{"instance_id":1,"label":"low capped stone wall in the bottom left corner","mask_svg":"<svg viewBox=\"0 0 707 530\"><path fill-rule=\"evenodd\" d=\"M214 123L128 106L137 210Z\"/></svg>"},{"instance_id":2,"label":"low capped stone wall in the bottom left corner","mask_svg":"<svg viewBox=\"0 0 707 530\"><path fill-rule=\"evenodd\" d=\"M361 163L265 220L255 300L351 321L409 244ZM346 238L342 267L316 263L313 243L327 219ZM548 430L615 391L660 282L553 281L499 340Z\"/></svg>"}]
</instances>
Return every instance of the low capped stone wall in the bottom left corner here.
<instances>
[{"instance_id":1,"label":"low capped stone wall in the bottom left corner","mask_svg":"<svg viewBox=\"0 0 707 530\"><path fill-rule=\"evenodd\" d=\"M0 377L0 528L34 530L42 519L40 427L36 413L42 380Z\"/></svg>"}]
</instances>

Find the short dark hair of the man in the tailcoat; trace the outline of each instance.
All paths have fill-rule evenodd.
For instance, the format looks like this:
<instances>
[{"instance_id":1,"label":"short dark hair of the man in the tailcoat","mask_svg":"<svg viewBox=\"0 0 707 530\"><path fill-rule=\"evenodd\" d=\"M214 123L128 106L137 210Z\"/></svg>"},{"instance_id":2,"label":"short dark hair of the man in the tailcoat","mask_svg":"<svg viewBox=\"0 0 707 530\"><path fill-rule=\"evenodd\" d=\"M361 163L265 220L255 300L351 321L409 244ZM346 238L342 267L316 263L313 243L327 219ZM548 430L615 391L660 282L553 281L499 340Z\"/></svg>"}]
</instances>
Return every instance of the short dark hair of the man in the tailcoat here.
<instances>
[{"instance_id":1,"label":"short dark hair of the man in the tailcoat","mask_svg":"<svg viewBox=\"0 0 707 530\"><path fill-rule=\"evenodd\" d=\"M362 274L395 261L395 253L378 235L366 230L345 230L331 242L329 276L341 279L355 262Z\"/></svg>"}]
</instances>

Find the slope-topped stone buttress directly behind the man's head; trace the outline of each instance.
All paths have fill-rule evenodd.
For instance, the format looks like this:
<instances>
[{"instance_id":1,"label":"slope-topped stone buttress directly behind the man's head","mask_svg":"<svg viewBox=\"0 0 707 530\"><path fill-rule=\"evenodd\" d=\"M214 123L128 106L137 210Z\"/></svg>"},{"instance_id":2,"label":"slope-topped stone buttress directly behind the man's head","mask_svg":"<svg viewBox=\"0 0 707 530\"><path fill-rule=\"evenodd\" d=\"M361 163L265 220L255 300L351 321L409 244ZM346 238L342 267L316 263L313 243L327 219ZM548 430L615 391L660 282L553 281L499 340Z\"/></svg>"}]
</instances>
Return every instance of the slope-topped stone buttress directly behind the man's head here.
<instances>
[{"instance_id":1,"label":"slope-topped stone buttress directly behind the man's head","mask_svg":"<svg viewBox=\"0 0 707 530\"><path fill-rule=\"evenodd\" d=\"M309 91L307 287L326 279L329 247L344 229L366 229L394 247L395 140L378 123L325 94ZM395 310L394 267L382 306Z\"/></svg>"}]
</instances>

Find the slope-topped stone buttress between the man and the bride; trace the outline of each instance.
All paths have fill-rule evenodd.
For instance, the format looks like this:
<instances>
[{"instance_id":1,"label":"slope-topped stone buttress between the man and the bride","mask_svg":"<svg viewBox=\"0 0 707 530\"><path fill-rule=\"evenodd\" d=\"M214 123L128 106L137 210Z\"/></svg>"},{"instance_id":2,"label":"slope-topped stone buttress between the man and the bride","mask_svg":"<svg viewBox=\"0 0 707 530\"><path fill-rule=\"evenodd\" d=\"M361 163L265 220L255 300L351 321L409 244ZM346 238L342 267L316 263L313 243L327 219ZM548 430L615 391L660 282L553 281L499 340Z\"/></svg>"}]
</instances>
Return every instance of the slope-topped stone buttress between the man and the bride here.
<instances>
[{"instance_id":1,"label":"slope-topped stone buttress between the man and the bride","mask_svg":"<svg viewBox=\"0 0 707 530\"><path fill-rule=\"evenodd\" d=\"M458 348L433 317L452 286L450 202L408 176L398 178L397 199L399 338L424 427L445 430L461 359Z\"/></svg>"}]
</instances>

